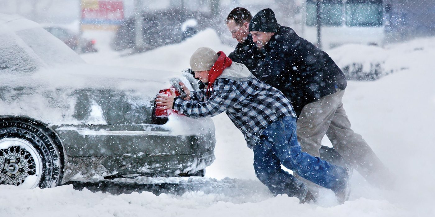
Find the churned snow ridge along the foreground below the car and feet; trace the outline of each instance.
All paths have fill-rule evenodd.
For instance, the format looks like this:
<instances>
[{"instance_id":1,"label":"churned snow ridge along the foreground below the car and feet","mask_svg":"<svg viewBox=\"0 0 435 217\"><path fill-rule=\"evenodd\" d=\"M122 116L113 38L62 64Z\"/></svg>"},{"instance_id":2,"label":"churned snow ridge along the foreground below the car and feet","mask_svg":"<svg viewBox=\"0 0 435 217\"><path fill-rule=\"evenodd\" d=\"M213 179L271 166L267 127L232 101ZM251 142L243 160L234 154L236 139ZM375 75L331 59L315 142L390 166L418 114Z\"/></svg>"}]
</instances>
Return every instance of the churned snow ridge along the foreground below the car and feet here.
<instances>
[{"instance_id":1,"label":"churned snow ridge along the foreground below the car and feet","mask_svg":"<svg viewBox=\"0 0 435 217\"><path fill-rule=\"evenodd\" d=\"M76 191L71 185L34 189L33 194L29 194L28 190L9 186L2 186L1 190L2 215L20 217L253 217L283 214L348 217L355 216L355 213L364 213L364 216L370 217L407 216L387 201L361 198L341 206L318 207L315 204L298 204L298 199L286 195L267 198L261 191L249 195L251 197L228 197L225 194L204 194L201 191L186 192L182 195L156 196L151 192L112 195L92 193L86 189ZM10 194L15 198L21 198L19 201L26 202L20 203L9 200L10 196L5 197ZM238 200L234 201L234 198Z\"/></svg>"}]
</instances>

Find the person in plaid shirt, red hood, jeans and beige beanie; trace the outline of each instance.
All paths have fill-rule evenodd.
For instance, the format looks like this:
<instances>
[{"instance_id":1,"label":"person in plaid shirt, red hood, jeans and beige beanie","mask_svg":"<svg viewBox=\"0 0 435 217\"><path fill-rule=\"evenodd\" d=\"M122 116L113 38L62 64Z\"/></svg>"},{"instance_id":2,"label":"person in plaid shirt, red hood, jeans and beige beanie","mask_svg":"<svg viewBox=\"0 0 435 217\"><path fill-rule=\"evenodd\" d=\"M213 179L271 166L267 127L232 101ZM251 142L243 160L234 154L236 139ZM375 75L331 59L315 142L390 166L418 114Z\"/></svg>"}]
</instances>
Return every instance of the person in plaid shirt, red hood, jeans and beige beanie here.
<instances>
[{"instance_id":1,"label":"person in plaid shirt, red hood, jeans and beige beanie","mask_svg":"<svg viewBox=\"0 0 435 217\"><path fill-rule=\"evenodd\" d=\"M301 203L314 200L303 182L281 169L283 164L334 191L339 203L348 199L348 169L301 152L296 115L278 89L255 78L246 66L232 62L222 51L199 48L190 65L195 78L208 82L207 90L190 92L180 83L187 96L159 95L156 101L161 109L175 109L189 117L226 112L254 151L255 174L274 194L298 197Z\"/></svg>"}]
</instances>

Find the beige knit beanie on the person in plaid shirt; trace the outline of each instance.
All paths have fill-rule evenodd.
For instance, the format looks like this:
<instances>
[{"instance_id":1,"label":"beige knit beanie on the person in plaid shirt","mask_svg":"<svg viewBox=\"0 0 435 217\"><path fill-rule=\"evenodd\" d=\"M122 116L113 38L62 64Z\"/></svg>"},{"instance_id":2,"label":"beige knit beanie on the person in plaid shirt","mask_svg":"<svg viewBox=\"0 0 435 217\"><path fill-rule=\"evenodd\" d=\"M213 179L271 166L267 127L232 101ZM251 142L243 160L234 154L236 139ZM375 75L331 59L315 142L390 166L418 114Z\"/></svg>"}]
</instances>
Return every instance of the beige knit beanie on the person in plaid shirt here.
<instances>
[{"instance_id":1,"label":"beige knit beanie on the person in plaid shirt","mask_svg":"<svg viewBox=\"0 0 435 217\"><path fill-rule=\"evenodd\" d=\"M210 70L218 57L218 54L211 48L200 47L191 56L191 68L194 72Z\"/></svg>"}]
</instances>

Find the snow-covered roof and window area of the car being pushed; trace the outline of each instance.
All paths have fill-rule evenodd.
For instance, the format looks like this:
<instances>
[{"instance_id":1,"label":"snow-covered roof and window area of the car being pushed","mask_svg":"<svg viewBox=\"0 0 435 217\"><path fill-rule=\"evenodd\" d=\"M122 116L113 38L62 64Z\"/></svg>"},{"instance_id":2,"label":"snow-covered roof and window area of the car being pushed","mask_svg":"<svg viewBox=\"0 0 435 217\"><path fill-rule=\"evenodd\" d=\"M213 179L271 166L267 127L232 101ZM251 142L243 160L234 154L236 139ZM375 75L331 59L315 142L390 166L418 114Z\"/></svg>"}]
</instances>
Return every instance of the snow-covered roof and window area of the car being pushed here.
<instances>
[{"instance_id":1,"label":"snow-covered roof and window area of the car being pushed","mask_svg":"<svg viewBox=\"0 0 435 217\"><path fill-rule=\"evenodd\" d=\"M58 64L84 63L77 53L38 23L2 14L0 29L1 72L29 72Z\"/></svg>"}]
</instances>

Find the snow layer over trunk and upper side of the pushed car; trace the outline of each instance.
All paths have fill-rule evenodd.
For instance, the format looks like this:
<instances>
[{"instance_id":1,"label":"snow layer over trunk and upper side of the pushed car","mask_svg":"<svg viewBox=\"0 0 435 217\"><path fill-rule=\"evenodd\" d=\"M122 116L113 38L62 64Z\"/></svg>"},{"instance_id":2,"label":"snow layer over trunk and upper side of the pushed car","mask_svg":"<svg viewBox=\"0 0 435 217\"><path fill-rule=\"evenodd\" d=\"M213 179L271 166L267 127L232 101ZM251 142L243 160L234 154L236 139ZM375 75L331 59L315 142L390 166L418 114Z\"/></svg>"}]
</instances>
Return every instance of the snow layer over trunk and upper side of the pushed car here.
<instances>
[{"instance_id":1,"label":"snow layer over trunk and upper side of the pushed car","mask_svg":"<svg viewBox=\"0 0 435 217\"><path fill-rule=\"evenodd\" d=\"M107 124L102 112L91 112L87 119L74 116L77 95L81 95L77 92L123 95L123 102L131 106L151 108L157 93L171 86L171 78L180 76L180 72L88 64L1 72L1 115L27 116L50 125ZM100 110L98 106L95 102L93 110Z\"/></svg>"}]
</instances>

